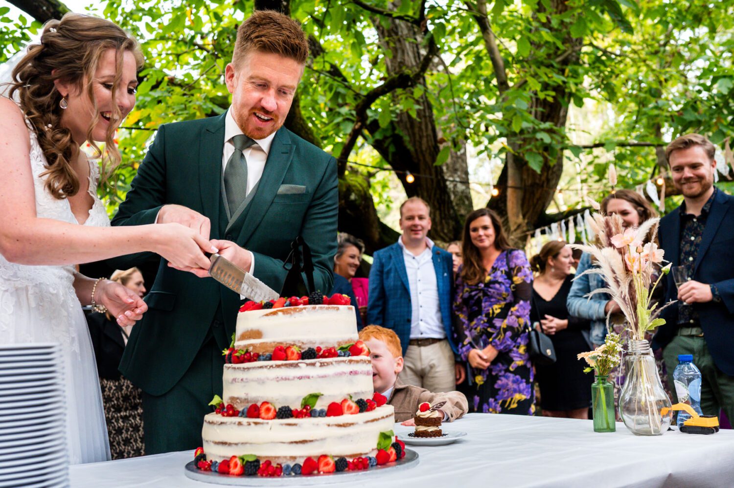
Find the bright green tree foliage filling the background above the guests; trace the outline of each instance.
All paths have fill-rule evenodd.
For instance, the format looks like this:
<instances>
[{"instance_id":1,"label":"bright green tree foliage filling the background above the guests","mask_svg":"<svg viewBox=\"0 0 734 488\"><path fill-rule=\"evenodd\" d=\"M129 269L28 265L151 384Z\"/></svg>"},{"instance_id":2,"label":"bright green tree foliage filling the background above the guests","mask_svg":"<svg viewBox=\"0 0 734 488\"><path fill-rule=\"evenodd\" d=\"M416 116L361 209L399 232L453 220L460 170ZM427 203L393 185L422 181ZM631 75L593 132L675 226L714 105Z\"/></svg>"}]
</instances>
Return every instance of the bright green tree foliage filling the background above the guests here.
<instances>
[{"instance_id":1,"label":"bright green tree foliage filling the background above the guests","mask_svg":"<svg viewBox=\"0 0 734 488\"><path fill-rule=\"evenodd\" d=\"M113 186L103 190L109 211L124 198L155 128L225 111L225 65L236 27L253 7L252 1L106 3L102 15L142 40L146 59L137 106L125 121L128 129L120 131L123 165ZM415 42L425 46L434 40L440 58L425 84L396 90L371 105L369 120L385 131L373 136L406 138L388 134L390 122L401 112L415 117L425 93L449 143L436 164L464 142L480 155L501 158L507 138L520 137L531 168L553 164L562 151L563 161L573 163L567 164L562 184L586 185L595 197L595 189L603 190L610 161L623 175L622 186L633 187L656 172L653 148L626 148L619 142L660 143L696 131L720 144L734 132L734 0L292 0L290 7L323 47L305 71L299 103L317 142L334 154L352 130L357 103L388 76L385 59L391 53L379 43L376 27L391 18L424 18L424 38ZM483 8L506 66L509 90L504 94L476 22ZM1 62L39 24L8 18L0 7L0 26ZM559 58L567 51L573 51L573 60L561 68ZM588 112L586 120L595 121L595 130L539 122L538 106L562 92L570 94L571 111ZM582 150L573 144L578 141L604 147ZM350 159L385 166L370 142L369 135L360 139ZM370 172L377 202L390 204L384 173L357 166L349 172Z\"/></svg>"}]
</instances>

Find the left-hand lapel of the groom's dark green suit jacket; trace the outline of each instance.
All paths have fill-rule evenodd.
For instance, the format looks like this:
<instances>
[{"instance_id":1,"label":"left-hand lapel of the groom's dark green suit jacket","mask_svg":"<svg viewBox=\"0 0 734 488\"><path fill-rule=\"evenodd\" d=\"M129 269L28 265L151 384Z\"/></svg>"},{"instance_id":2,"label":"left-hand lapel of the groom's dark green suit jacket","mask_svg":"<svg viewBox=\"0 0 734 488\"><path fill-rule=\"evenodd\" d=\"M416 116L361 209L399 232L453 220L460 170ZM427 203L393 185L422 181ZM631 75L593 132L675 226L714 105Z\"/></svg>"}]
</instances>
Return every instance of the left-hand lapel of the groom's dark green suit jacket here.
<instances>
[{"instance_id":1,"label":"left-hand lapel of the groom's dark green suit jacket","mask_svg":"<svg viewBox=\"0 0 734 488\"><path fill-rule=\"evenodd\" d=\"M222 198L222 154L225 148L225 115L211 117L199 145L199 191L203 214L219 228L219 199Z\"/></svg>"}]
</instances>

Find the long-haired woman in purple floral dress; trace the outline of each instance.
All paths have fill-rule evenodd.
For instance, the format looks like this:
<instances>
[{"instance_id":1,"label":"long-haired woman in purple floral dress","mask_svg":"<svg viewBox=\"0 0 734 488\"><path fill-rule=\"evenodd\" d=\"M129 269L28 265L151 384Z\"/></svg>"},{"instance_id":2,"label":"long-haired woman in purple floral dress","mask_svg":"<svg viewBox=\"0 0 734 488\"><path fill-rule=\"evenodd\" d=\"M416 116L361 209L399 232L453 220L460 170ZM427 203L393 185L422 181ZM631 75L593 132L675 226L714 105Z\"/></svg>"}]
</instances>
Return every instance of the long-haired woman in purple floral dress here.
<instances>
[{"instance_id":1,"label":"long-haired woman in purple floral dress","mask_svg":"<svg viewBox=\"0 0 734 488\"><path fill-rule=\"evenodd\" d=\"M513 250L494 211L468 215L464 263L457 270L454 332L469 363L475 412L533 415L528 321L533 274L525 252Z\"/></svg>"}]
</instances>

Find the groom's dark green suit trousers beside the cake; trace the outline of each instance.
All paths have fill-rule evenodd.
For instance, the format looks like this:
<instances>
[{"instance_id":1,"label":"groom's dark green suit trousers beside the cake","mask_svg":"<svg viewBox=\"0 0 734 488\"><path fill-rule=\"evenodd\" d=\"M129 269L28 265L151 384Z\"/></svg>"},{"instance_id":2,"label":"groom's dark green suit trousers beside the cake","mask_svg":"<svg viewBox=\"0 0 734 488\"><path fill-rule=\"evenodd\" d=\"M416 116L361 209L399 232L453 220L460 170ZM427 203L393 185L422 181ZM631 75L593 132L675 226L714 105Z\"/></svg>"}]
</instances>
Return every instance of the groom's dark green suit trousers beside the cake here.
<instances>
[{"instance_id":1,"label":"groom's dark green suit trousers beside the cake","mask_svg":"<svg viewBox=\"0 0 734 488\"><path fill-rule=\"evenodd\" d=\"M145 454L186 451L202 445L204 415L214 395L222 396L222 347L208 336L191 367L171 390L160 396L142 394ZM155 374L151 371L151 374Z\"/></svg>"}]
</instances>

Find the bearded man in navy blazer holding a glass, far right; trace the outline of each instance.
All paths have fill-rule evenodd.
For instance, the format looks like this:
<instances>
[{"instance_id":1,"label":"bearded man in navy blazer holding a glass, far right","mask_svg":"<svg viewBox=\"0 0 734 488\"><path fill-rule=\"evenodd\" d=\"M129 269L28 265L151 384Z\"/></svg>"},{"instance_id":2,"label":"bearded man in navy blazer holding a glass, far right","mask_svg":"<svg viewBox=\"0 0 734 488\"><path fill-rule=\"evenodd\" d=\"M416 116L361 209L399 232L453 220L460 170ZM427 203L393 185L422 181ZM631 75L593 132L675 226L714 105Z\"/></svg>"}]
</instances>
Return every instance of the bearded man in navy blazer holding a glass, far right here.
<instances>
[{"instance_id":1,"label":"bearded man in navy blazer holding a glass, far right","mask_svg":"<svg viewBox=\"0 0 734 488\"><path fill-rule=\"evenodd\" d=\"M653 347L664 347L669 382L679 354L693 354L701 371L701 409L734 420L734 197L713 186L716 148L704 136L687 134L665 150L683 203L660 222L665 259L685 270L676 286L666 277L665 301ZM673 391L676 391L673 389Z\"/></svg>"}]
</instances>

